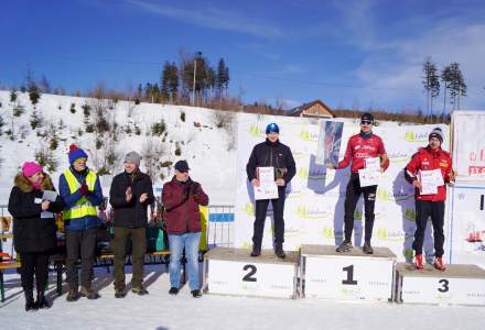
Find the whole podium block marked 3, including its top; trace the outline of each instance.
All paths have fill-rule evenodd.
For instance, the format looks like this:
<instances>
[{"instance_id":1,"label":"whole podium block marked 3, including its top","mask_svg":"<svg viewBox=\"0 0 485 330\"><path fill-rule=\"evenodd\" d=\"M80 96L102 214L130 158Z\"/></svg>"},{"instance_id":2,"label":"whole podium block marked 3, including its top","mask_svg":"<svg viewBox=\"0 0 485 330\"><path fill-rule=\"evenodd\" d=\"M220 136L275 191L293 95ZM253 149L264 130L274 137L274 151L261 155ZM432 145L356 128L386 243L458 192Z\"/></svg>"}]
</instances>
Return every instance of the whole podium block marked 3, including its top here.
<instances>
[{"instance_id":1,"label":"whole podium block marked 3, including its top","mask_svg":"<svg viewBox=\"0 0 485 330\"><path fill-rule=\"evenodd\" d=\"M485 306L485 271L475 265L448 265L441 272L398 264L397 273L398 302Z\"/></svg>"}]
</instances>

